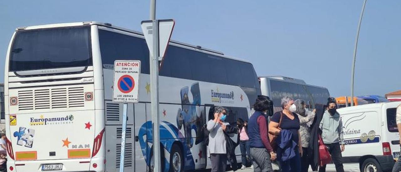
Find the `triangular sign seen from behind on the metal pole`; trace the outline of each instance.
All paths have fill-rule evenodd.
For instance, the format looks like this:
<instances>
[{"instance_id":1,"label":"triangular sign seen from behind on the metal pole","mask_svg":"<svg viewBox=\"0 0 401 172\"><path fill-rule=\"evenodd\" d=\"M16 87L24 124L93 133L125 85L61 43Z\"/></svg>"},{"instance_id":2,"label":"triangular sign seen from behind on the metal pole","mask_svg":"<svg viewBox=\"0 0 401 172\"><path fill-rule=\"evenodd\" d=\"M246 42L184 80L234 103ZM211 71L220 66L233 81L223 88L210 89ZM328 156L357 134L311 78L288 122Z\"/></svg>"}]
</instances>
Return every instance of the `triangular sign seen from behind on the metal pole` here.
<instances>
[{"instance_id":1,"label":"triangular sign seen from behind on the metal pole","mask_svg":"<svg viewBox=\"0 0 401 172\"><path fill-rule=\"evenodd\" d=\"M164 57L171 33L174 29L175 22L173 19L157 20L159 23L159 54L157 57ZM148 44L150 56L153 55L153 29L152 20L142 21L142 31L144 32L146 43Z\"/></svg>"}]
</instances>

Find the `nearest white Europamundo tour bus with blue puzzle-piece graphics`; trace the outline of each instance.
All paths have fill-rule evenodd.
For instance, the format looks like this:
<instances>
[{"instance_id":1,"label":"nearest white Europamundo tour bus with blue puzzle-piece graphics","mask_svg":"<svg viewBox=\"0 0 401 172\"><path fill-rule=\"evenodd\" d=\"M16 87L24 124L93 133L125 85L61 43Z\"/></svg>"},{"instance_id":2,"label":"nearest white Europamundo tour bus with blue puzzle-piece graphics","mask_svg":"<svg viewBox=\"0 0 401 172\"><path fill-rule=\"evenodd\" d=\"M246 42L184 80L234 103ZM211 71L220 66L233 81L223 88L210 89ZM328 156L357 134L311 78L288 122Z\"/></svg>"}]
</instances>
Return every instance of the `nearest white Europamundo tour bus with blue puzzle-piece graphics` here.
<instances>
[{"instance_id":1,"label":"nearest white Europamundo tour bus with blue puzzle-piece graphics","mask_svg":"<svg viewBox=\"0 0 401 172\"><path fill-rule=\"evenodd\" d=\"M206 168L203 126L209 111L225 106L228 122L247 120L261 94L257 75L247 61L176 41L169 45L159 77L162 168ZM140 102L128 104L124 170L151 169L144 37L108 23L81 22L20 27L12 35L4 77L9 171L119 170L122 103L111 101L116 59L140 60L142 67Z\"/></svg>"}]
</instances>

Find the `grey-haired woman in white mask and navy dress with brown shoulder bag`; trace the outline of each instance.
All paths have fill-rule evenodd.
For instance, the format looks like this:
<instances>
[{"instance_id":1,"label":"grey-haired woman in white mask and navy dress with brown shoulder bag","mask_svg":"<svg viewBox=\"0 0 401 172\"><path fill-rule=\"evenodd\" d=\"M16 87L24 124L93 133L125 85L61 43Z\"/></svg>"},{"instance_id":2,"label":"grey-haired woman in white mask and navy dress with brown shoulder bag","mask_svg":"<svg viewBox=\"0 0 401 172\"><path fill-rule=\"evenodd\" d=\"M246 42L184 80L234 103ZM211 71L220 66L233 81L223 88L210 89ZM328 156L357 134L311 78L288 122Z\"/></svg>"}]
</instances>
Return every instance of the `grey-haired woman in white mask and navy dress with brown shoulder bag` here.
<instances>
[{"instance_id":1,"label":"grey-haired woman in white mask and navy dress with brown shoulder bag","mask_svg":"<svg viewBox=\"0 0 401 172\"><path fill-rule=\"evenodd\" d=\"M282 172L301 171L302 144L300 120L294 113L296 106L292 97L281 99L283 111L276 112L270 119L269 132L277 135L277 160Z\"/></svg>"}]
</instances>

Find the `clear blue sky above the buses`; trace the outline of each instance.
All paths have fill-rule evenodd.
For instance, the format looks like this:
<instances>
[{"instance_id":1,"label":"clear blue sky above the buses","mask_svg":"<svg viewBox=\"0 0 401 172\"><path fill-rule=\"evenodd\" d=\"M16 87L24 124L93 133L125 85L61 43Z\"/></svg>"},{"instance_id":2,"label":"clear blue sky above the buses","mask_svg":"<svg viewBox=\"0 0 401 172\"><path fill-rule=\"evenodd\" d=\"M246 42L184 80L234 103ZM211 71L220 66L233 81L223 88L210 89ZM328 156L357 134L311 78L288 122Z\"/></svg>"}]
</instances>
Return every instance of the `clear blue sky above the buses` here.
<instances>
[{"instance_id":1,"label":"clear blue sky above the buses","mask_svg":"<svg viewBox=\"0 0 401 172\"><path fill-rule=\"evenodd\" d=\"M176 20L172 39L251 61L260 76L283 75L350 95L363 0L158 0ZM401 1L368 0L360 30L355 95L401 89ZM99 21L141 31L149 0L0 1L0 70L16 27ZM0 81L4 76L0 75Z\"/></svg>"}]
</instances>

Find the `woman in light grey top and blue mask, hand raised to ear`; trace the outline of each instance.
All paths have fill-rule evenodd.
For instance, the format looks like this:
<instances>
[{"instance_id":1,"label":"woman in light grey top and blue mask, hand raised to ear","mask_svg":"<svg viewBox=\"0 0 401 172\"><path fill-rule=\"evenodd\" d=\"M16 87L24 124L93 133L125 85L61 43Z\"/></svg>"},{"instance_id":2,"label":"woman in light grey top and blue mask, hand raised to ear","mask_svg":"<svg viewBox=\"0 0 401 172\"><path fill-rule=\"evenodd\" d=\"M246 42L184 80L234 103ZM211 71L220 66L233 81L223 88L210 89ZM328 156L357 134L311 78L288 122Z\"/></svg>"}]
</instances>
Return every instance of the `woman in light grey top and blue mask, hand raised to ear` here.
<instances>
[{"instance_id":1,"label":"woman in light grey top and blue mask, hand raised to ear","mask_svg":"<svg viewBox=\"0 0 401 172\"><path fill-rule=\"evenodd\" d=\"M225 172L227 168L227 149L224 131L229 123L224 122L227 115L225 108L215 108L214 119L207 123L209 130L209 153L212 170L211 172Z\"/></svg>"}]
</instances>

